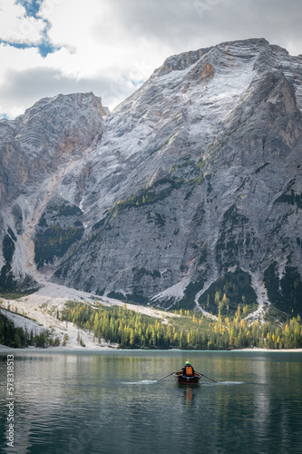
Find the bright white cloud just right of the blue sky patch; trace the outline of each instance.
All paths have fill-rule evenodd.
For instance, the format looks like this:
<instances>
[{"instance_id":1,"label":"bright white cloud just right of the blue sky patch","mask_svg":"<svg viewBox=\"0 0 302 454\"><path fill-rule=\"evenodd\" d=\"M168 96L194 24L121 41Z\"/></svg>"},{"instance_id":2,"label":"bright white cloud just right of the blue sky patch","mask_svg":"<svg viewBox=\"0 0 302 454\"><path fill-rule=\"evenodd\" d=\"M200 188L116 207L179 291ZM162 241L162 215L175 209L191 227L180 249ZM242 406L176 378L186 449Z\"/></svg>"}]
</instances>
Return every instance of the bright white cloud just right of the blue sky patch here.
<instances>
[{"instance_id":1,"label":"bright white cloud just right of the blue sky patch","mask_svg":"<svg viewBox=\"0 0 302 454\"><path fill-rule=\"evenodd\" d=\"M54 9L49 36L54 44L70 50L69 55L64 54L64 62L60 62L64 74L89 77L106 71L113 76L117 73L123 76L132 74L141 80L154 69L152 60L155 55L158 64L167 56L163 52L164 45L159 50L152 40L146 41L143 36L133 35L132 27L125 30L113 3L90 0L87 5L85 2L79 4L63 0L60 8ZM149 64L144 63L146 57ZM59 63L56 58L61 56L47 56L54 65ZM138 74L139 68L141 71Z\"/></svg>"}]
</instances>

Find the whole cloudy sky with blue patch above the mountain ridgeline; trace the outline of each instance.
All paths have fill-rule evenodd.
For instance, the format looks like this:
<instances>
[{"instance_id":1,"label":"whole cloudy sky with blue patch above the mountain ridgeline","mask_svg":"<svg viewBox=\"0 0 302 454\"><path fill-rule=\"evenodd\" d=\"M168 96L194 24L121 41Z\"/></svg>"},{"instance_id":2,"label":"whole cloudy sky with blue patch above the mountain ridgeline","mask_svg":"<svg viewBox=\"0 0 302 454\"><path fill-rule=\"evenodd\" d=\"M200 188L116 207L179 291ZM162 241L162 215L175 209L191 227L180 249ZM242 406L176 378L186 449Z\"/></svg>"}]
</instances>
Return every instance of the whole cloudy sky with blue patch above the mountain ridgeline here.
<instances>
[{"instance_id":1,"label":"whole cloudy sky with blue patch above the mountain ridgeline","mask_svg":"<svg viewBox=\"0 0 302 454\"><path fill-rule=\"evenodd\" d=\"M302 54L301 0L0 0L0 118L93 92L111 110L172 54L266 38Z\"/></svg>"}]
</instances>

